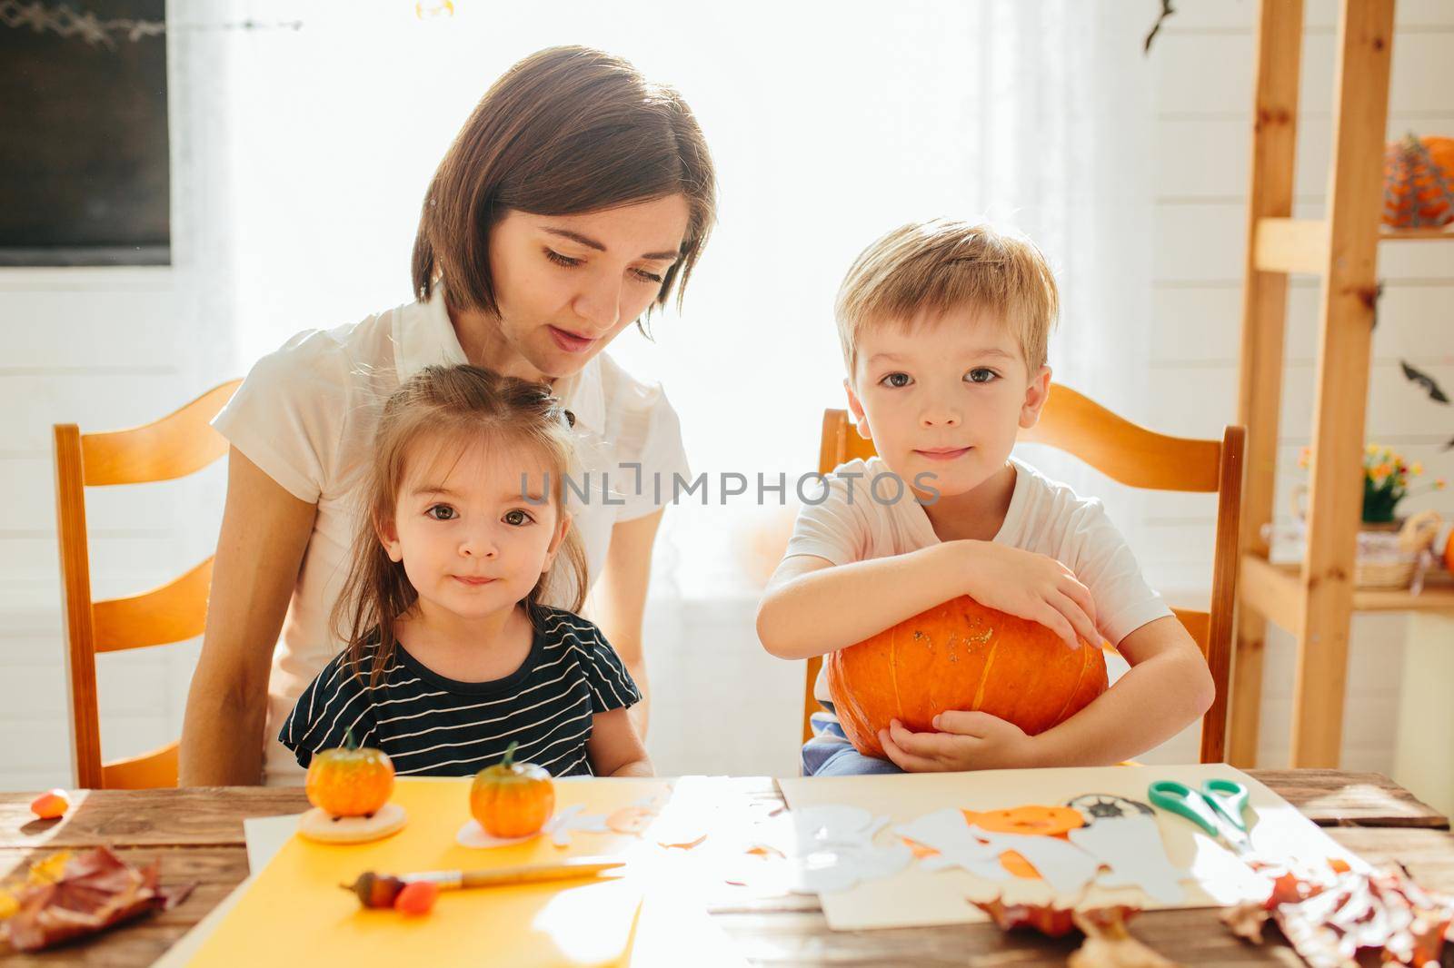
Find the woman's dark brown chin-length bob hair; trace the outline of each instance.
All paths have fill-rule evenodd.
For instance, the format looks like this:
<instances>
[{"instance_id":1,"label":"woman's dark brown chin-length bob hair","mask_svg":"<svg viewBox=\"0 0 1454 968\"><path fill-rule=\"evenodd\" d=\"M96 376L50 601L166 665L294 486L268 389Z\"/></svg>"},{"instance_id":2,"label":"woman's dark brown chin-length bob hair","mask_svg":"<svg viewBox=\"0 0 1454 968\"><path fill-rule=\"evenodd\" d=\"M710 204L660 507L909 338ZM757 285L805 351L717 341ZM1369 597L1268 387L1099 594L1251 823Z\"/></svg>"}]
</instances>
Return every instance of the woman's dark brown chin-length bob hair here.
<instances>
[{"instance_id":1,"label":"woman's dark brown chin-length bob hair","mask_svg":"<svg viewBox=\"0 0 1454 968\"><path fill-rule=\"evenodd\" d=\"M448 281L449 305L497 314L490 228L509 209L574 215L682 193L680 257L654 305L692 275L717 212L712 161L682 96L619 57L553 47L484 93L439 163L414 238L414 294Z\"/></svg>"}]
</instances>

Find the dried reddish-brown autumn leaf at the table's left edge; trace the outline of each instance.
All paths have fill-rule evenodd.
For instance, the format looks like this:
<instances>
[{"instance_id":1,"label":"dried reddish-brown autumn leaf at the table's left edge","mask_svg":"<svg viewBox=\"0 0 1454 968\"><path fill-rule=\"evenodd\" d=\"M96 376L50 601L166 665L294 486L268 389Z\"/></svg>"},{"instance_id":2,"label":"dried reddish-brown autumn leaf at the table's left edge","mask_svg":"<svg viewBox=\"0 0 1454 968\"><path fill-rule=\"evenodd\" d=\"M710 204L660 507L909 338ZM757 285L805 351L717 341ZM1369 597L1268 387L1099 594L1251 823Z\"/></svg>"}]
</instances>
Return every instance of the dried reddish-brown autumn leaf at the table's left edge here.
<instances>
[{"instance_id":1,"label":"dried reddish-brown autumn leaf at the table's left edge","mask_svg":"<svg viewBox=\"0 0 1454 968\"><path fill-rule=\"evenodd\" d=\"M7 940L19 951L39 951L147 911L174 907L192 891L192 885L158 888L157 872L157 863L138 871L106 847L80 853L54 884L20 891L19 911L4 923Z\"/></svg>"}]
</instances>

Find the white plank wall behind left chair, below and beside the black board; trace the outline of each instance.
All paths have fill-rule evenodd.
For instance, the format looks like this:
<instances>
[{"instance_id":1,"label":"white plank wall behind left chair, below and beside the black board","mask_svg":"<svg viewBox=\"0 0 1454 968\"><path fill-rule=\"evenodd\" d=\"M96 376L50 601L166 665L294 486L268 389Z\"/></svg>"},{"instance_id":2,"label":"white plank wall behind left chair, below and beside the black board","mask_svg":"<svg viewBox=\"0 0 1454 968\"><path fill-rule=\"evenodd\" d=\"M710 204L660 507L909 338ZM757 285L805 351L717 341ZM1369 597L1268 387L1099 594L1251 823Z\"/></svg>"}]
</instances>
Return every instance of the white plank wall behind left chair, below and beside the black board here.
<instances>
[{"instance_id":1,"label":"white plank wall behind left chair, below and beside the black board","mask_svg":"<svg viewBox=\"0 0 1454 968\"><path fill-rule=\"evenodd\" d=\"M0 269L0 789L71 778L51 424L145 423L237 372L225 38L174 32L167 61L173 265ZM144 592L204 558L222 471L92 490L95 596ZM103 756L176 738L195 661L195 642L100 657Z\"/></svg>"}]
</instances>

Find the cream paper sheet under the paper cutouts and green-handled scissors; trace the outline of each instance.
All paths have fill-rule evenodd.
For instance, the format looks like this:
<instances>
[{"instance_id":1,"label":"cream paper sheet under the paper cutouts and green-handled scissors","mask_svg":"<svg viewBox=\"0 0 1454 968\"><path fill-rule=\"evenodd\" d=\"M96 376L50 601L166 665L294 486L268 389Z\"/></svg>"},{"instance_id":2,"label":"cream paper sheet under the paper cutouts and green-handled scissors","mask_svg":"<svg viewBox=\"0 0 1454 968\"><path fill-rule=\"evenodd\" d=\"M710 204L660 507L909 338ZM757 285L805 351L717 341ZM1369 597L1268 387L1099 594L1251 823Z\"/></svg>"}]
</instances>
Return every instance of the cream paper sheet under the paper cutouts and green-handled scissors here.
<instances>
[{"instance_id":1,"label":"cream paper sheet under the paper cutouts and green-handled scissors","mask_svg":"<svg viewBox=\"0 0 1454 968\"><path fill-rule=\"evenodd\" d=\"M798 810L816 804L862 807L887 815L894 824L957 807L1000 810L1024 804L1057 805L1082 794L1111 794L1147 802L1146 788L1153 781L1175 779L1197 788L1211 778L1236 779L1248 785L1256 820L1252 844L1274 856L1297 858L1304 863L1325 863L1339 858L1358 866L1362 862L1343 850L1296 807L1252 779L1223 763L1194 766L1105 766L1038 770L983 770L977 773L909 773L903 776L826 776L778 781L788 807ZM1216 907L1258 897L1265 884L1229 850L1207 837L1191 821L1166 811L1156 811L1166 856L1188 868L1195 881L1182 881L1186 897L1181 904L1153 901L1140 888L1092 885L1083 898L1056 898L1040 879L1012 878L987 881L968 871L926 871L912 865L904 872L868 881L846 891L823 895L823 913L835 930L868 927L915 927L983 921L987 916L968 898L992 900L1003 892L1006 903L1076 903L1077 907L1133 904L1143 910L1166 907ZM894 834L883 831L875 843L891 843Z\"/></svg>"}]
</instances>

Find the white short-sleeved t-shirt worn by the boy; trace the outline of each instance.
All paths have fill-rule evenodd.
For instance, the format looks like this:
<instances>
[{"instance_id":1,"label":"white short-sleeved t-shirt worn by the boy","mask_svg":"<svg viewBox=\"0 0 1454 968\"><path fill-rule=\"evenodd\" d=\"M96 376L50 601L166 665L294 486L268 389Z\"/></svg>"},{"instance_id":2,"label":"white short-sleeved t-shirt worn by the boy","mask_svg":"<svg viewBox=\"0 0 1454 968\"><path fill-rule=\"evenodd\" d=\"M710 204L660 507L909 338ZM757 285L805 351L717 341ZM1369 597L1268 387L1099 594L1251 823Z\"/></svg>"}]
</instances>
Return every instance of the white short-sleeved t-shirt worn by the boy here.
<instances>
[{"instance_id":1,"label":"white short-sleeved t-shirt worn by the boy","mask_svg":"<svg viewBox=\"0 0 1454 968\"><path fill-rule=\"evenodd\" d=\"M995 541L1056 558L1090 589L1099 632L1117 645L1147 622L1172 613L1146 584L1125 538L1106 517L1101 501L1080 497L1024 461L1011 458L1015 491ZM901 555L939 544L933 525L913 493L900 500L875 500L874 478L891 474L881 458L855 459L827 475L826 496L804 504L784 557L814 555L835 565ZM878 494L893 499L899 488L883 481ZM845 645L849 642L845 642ZM829 699L826 676L814 695Z\"/></svg>"}]
</instances>

